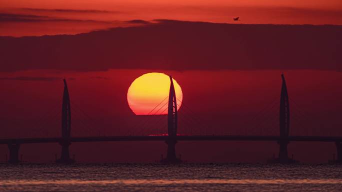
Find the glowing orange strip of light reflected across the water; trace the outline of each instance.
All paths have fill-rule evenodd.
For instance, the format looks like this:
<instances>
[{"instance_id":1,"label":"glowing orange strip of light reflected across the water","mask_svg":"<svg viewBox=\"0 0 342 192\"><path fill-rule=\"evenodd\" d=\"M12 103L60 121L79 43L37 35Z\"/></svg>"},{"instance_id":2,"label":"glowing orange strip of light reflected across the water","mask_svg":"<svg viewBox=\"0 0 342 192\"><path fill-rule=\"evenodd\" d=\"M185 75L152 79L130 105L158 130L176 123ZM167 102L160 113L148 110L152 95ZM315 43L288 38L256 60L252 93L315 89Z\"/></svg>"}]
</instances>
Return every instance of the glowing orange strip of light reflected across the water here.
<instances>
[{"instance_id":1,"label":"glowing orange strip of light reflected across the water","mask_svg":"<svg viewBox=\"0 0 342 192\"><path fill-rule=\"evenodd\" d=\"M172 185L172 184L342 184L342 179L331 180L3 180L0 186L18 185Z\"/></svg>"}]
</instances>

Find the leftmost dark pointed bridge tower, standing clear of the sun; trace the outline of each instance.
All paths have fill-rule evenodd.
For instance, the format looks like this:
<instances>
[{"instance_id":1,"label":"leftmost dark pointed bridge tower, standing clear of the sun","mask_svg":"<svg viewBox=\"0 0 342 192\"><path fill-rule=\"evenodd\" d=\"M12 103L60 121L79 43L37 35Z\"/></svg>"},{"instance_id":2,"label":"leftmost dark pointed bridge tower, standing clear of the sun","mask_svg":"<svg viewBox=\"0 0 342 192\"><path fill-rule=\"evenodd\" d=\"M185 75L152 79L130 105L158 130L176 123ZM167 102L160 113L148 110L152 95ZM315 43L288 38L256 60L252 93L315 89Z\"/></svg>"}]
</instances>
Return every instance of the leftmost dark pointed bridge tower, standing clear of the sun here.
<instances>
[{"instance_id":1,"label":"leftmost dark pointed bridge tower, standing clear of the sun","mask_svg":"<svg viewBox=\"0 0 342 192\"><path fill-rule=\"evenodd\" d=\"M70 109L70 98L69 91L67 90L66 80L64 81L64 93L62 103L62 117L61 117L61 155L60 159L56 160L56 163L74 163L69 156L70 133L71 133L71 109Z\"/></svg>"}]
</instances>

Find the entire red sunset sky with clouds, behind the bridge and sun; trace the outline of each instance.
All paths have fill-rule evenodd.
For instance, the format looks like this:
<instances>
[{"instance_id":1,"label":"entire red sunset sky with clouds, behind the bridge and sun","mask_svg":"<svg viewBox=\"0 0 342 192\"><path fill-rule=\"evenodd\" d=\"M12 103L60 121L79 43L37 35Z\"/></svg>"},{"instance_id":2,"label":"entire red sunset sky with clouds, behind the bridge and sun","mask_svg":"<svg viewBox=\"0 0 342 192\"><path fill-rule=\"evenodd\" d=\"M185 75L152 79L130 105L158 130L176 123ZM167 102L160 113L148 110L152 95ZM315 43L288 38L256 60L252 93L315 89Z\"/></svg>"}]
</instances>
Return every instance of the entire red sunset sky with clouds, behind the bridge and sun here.
<instances>
[{"instance_id":1,"label":"entire red sunset sky with clouds, behind the bridge and sun","mask_svg":"<svg viewBox=\"0 0 342 192\"><path fill-rule=\"evenodd\" d=\"M150 72L181 87L181 134L277 135L284 73L290 135L342 136L341 34L341 0L0 0L0 138L59 136L63 78L72 136L164 134L165 116L137 116L127 101L131 83ZM335 153L332 143L288 150L314 163ZM70 151L83 162L154 162L166 145ZM277 144L178 142L176 151L190 162L264 162ZM0 161L6 153L0 146ZM49 162L60 146L20 153Z\"/></svg>"}]
</instances>

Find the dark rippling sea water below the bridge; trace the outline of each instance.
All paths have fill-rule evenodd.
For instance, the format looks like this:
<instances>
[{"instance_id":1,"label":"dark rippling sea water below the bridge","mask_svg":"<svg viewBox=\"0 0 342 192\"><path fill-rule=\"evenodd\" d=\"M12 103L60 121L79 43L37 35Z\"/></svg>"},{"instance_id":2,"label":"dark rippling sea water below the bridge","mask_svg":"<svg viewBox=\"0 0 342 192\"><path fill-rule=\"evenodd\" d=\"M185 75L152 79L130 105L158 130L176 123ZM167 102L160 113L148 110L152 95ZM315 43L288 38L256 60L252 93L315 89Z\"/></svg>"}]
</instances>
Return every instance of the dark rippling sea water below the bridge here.
<instances>
[{"instance_id":1,"label":"dark rippling sea water below the bridge","mask_svg":"<svg viewBox=\"0 0 342 192\"><path fill-rule=\"evenodd\" d=\"M342 165L0 164L0 192L341 192Z\"/></svg>"}]
</instances>

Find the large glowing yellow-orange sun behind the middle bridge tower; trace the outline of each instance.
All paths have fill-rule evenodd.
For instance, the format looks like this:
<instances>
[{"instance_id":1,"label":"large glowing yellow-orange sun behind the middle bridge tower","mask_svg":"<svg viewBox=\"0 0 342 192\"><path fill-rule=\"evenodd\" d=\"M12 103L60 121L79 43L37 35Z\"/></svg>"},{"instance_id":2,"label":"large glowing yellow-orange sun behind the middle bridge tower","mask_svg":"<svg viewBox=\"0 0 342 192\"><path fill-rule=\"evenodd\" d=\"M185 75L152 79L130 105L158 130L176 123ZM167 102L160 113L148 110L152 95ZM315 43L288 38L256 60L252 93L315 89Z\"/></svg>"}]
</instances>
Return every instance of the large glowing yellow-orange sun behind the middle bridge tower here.
<instances>
[{"instance_id":1,"label":"large glowing yellow-orange sun behind the middle bridge tower","mask_svg":"<svg viewBox=\"0 0 342 192\"><path fill-rule=\"evenodd\" d=\"M172 80L179 110L183 93L179 84L173 78ZM135 115L167 114L169 88L170 79L164 73L143 74L128 88L128 105Z\"/></svg>"}]
</instances>

